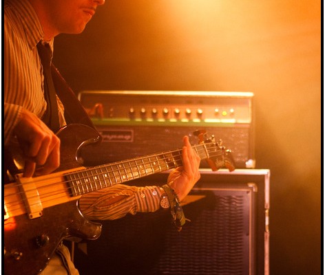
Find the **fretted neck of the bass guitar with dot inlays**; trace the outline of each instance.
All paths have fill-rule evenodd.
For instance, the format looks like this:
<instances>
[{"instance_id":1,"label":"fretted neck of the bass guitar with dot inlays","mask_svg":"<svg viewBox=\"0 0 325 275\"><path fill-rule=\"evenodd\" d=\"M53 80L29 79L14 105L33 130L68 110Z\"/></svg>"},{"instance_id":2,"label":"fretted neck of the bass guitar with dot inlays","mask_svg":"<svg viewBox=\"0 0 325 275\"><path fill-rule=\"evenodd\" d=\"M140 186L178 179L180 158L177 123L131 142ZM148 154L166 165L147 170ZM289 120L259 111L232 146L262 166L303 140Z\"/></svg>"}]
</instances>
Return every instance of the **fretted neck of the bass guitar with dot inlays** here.
<instances>
[{"instance_id":1,"label":"fretted neck of the bass guitar with dot inlays","mask_svg":"<svg viewBox=\"0 0 325 275\"><path fill-rule=\"evenodd\" d=\"M193 146L193 149L201 159L209 157L207 155L207 144ZM101 188L114 186L115 184L122 184L132 179L139 179L177 168L178 166L182 166L182 150L85 168L77 172L67 173L65 177L70 189L70 195L75 197Z\"/></svg>"}]
</instances>

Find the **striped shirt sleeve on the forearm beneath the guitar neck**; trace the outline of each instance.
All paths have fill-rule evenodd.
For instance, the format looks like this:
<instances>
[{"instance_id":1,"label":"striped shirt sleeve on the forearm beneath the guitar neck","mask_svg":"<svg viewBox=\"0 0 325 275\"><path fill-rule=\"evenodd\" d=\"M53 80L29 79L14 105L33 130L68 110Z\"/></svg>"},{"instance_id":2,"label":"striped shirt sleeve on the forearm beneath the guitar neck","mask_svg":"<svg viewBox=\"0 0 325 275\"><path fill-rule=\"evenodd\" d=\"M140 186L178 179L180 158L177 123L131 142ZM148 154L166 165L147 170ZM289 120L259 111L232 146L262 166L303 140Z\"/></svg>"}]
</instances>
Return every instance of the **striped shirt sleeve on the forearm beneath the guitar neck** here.
<instances>
[{"instance_id":1,"label":"striped shirt sleeve on the forearm beneath the guitar neck","mask_svg":"<svg viewBox=\"0 0 325 275\"><path fill-rule=\"evenodd\" d=\"M117 184L83 195L78 206L87 219L120 219L126 214L155 212L160 208L161 194L158 186Z\"/></svg>"}]
</instances>

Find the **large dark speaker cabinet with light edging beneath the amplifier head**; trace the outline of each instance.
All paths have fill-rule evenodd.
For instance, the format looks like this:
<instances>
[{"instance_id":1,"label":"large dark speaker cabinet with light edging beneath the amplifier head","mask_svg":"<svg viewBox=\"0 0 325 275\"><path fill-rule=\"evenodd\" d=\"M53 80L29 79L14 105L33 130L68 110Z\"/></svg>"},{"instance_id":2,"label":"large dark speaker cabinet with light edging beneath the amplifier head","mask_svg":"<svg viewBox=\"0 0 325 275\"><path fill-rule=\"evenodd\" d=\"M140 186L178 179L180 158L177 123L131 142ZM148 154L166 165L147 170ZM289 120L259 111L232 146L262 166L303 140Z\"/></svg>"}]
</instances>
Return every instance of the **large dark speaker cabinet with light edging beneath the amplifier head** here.
<instances>
[{"instance_id":1,"label":"large dark speaker cabinet with light edging beneath the amplifier head","mask_svg":"<svg viewBox=\"0 0 325 275\"><path fill-rule=\"evenodd\" d=\"M168 173L134 184L165 184ZM96 241L78 243L81 274L269 274L269 170L216 173L185 199L190 221L178 232L169 210L101 221ZM189 202L191 201L191 202Z\"/></svg>"}]
</instances>

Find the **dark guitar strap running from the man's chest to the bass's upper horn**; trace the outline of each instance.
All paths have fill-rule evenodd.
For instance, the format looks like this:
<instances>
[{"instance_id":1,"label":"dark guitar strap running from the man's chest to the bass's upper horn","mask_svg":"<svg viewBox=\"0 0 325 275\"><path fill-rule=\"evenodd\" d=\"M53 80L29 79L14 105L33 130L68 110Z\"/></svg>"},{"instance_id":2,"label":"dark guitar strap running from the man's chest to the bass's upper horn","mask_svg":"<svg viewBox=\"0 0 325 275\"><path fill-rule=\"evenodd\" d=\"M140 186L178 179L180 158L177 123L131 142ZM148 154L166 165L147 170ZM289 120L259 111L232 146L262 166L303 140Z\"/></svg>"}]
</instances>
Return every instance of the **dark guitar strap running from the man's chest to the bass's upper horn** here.
<instances>
[{"instance_id":1,"label":"dark guitar strap running from the man's chest to the bass's upper horn","mask_svg":"<svg viewBox=\"0 0 325 275\"><path fill-rule=\"evenodd\" d=\"M56 69L53 64L51 66L51 72L56 94L59 96L65 109L64 115L67 124L84 124L96 130L94 123L92 122L89 115L81 105L81 102L78 100L78 98L76 98L76 95L74 94L70 86L66 83L63 76L61 76L59 70Z\"/></svg>"}]
</instances>

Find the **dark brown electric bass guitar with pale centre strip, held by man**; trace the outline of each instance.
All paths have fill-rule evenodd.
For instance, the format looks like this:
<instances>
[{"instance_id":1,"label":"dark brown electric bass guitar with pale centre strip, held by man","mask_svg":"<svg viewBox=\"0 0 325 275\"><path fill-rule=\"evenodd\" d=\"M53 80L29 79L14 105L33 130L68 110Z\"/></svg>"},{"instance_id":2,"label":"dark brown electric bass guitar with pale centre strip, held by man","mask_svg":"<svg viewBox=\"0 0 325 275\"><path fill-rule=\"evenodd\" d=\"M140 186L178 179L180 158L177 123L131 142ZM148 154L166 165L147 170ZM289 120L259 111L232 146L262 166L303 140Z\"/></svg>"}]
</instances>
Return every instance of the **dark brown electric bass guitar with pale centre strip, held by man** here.
<instances>
[{"instance_id":1,"label":"dark brown electric bass guitar with pale centre strip, held by man","mask_svg":"<svg viewBox=\"0 0 325 275\"><path fill-rule=\"evenodd\" d=\"M122 162L86 168L81 151L97 144L98 133L83 124L70 124L57 135L61 140L61 166L50 175L22 177L4 185L4 254L6 275L39 274L56 246L69 236L97 239L101 224L88 221L78 210L78 199L101 188L122 184L154 173L182 166L182 151L169 151ZM233 170L231 151L204 140L193 146L212 170L226 166ZM91 145L92 144L92 145Z\"/></svg>"}]
</instances>

